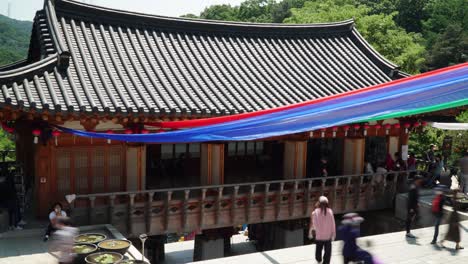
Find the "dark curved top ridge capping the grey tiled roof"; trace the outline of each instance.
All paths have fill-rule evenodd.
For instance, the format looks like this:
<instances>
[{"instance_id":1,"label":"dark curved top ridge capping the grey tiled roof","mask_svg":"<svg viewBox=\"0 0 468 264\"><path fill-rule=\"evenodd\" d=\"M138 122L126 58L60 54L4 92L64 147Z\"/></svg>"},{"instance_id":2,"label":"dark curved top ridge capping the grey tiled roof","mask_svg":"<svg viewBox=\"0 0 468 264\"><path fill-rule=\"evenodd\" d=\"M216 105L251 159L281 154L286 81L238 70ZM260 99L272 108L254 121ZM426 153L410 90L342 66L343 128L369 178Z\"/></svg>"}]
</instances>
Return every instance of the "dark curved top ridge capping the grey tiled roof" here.
<instances>
[{"instance_id":1,"label":"dark curved top ridge capping the grey tiled roof","mask_svg":"<svg viewBox=\"0 0 468 264\"><path fill-rule=\"evenodd\" d=\"M47 0L50 1L51 0ZM117 10L107 7L84 4L72 0L56 0L55 9L69 16L86 16L88 19L103 19L108 22L157 26L159 28L179 29L183 31L210 31L226 33L257 33L257 34L314 34L350 31L354 20L349 19L333 23L317 24L279 24L279 23L249 23L204 20L193 18L176 18L149 15L137 12Z\"/></svg>"}]
</instances>

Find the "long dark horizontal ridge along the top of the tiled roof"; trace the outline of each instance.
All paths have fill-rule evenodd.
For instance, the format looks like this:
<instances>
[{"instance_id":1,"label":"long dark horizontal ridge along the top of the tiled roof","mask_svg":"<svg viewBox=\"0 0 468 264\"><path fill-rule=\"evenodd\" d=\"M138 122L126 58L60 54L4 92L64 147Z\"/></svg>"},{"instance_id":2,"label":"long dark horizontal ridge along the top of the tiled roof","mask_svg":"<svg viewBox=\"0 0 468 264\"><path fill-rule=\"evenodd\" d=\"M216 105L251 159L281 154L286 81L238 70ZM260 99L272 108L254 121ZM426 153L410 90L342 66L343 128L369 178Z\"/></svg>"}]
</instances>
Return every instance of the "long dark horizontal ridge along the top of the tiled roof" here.
<instances>
[{"instance_id":1,"label":"long dark horizontal ridge along the top of the tiled roof","mask_svg":"<svg viewBox=\"0 0 468 264\"><path fill-rule=\"evenodd\" d=\"M101 7L86 3L77 2L74 0L45 0L49 3L55 2L57 9L60 11L70 11L70 15L88 15L89 17L93 16L93 12L105 12L107 16L106 19L116 20L116 21L125 21L129 23L138 23L146 24L151 22L158 22L161 25L172 25L172 26L183 26L184 29L188 28L197 28L201 29L204 27L209 27L210 30L213 28L222 29L223 31L236 31L236 30L253 30L259 33L267 33L265 30L275 30L274 32L278 33L277 30L293 30L293 31L306 31L308 33L310 30L321 29L330 30L336 29L337 31L351 31L354 27L354 19L348 19L344 21L337 22L328 22L328 23L314 23L314 24L284 24L284 23L254 23L254 22L238 22L238 21L220 21L220 20L208 20L208 19L194 19L194 18L181 18L181 17L169 17L153 14L145 14L133 11L119 10L108 7ZM49 4L49 6L51 6ZM73 6L73 8L71 8ZM81 11L81 12L80 12ZM135 20L135 17L139 17L142 20ZM102 18L102 16L100 16ZM145 23L146 22L146 23ZM243 33L245 33L243 31ZM296 32L293 32L296 33Z\"/></svg>"}]
</instances>

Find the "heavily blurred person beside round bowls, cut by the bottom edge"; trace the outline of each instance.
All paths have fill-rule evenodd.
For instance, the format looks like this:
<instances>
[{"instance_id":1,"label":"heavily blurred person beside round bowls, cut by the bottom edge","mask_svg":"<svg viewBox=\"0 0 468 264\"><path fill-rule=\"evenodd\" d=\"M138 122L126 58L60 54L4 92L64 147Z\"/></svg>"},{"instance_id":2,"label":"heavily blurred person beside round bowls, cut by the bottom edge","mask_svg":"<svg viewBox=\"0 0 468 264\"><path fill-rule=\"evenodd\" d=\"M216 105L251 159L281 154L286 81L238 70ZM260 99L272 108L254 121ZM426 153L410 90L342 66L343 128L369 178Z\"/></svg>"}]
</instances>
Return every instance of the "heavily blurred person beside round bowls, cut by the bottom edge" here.
<instances>
[{"instance_id":1,"label":"heavily blurred person beside round bowls, cut by the bottom edge","mask_svg":"<svg viewBox=\"0 0 468 264\"><path fill-rule=\"evenodd\" d=\"M52 235L49 251L58 258L59 264L73 263L73 238L78 235L78 228L72 227L70 218L62 216L57 217L55 226L57 231Z\"/></svg>"}]
</instances>

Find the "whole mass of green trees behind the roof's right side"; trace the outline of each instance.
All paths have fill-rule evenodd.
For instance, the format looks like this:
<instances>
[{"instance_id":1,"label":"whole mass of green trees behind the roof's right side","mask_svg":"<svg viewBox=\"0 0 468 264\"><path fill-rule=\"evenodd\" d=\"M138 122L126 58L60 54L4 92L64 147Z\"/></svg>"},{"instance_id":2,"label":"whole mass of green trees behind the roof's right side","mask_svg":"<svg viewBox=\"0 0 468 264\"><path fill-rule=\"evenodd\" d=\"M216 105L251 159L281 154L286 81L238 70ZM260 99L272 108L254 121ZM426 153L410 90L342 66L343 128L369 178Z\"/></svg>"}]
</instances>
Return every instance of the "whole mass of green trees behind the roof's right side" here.
<instances>
[{"instance_id":1,"label":"whole mass of green trees behind the roof's right side","mask_svg":"<svg viewBox=\"0 0 468 264\"><path fill-rule=\"evenodd\" d=\"M317 23L354 18L364 38L404 71L419 73L466 62L466 0L246 0L213 5L204 19Z\"/></svg>"}]
</instances>

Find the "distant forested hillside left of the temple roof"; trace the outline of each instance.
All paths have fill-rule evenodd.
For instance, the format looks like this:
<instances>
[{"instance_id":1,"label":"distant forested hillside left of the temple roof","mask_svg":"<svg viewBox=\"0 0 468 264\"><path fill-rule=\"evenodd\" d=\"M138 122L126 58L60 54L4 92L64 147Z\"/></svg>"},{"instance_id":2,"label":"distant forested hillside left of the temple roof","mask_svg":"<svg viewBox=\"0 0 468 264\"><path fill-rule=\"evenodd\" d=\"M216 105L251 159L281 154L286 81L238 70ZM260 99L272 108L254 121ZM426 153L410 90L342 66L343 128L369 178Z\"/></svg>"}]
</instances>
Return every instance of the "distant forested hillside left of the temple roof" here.
<instances>
[{"instance_id":1,"label":"distant forested hillside left of the temple roof","mask_svg":"<svg viewBox=\"0 0 468 264\"><path fill-rule=\"evenodd\" d=\"M0 15L0 65L26 57L32 22L19 21Z\"/></svg>"}]
</instances>

